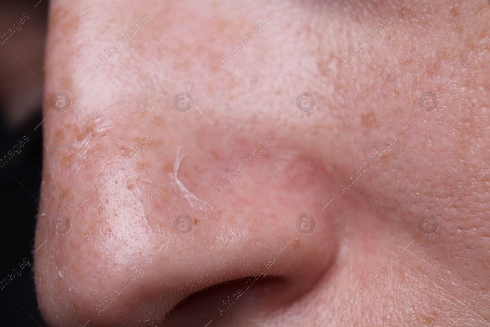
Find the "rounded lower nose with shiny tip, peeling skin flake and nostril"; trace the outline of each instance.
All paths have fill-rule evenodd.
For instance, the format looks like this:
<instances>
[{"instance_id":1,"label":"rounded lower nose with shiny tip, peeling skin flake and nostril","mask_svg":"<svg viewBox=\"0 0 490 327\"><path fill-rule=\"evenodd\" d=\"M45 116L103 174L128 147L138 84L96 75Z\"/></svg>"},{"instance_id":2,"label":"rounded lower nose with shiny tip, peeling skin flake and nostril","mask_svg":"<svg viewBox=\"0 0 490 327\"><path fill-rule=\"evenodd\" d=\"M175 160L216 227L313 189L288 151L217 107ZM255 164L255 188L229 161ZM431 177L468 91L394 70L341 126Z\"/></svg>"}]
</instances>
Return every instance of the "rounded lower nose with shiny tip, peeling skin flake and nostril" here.
<instances>
[{"instance_id":1,"label":"rounded lower nose with shiny tip, peeling skin flake and nostril","mask_svg":"<svg viewBox=\"0 0 490 327\"><path fill-rule=\"evenodd\" d=\"M325 194L312 187L318 170L268 176L274 164L264 158L207 201L195 190L221 180L229 163L204 167L203 177L192 172L196 157L174 153L156 158L172 165L151 178L125 168L76 217L58 208L68 233L39 227L37 242L51 247L35 253L36 285L53 326L229 326L288 307L325 276L336 240Z\"/></svg>"}]
</instances>

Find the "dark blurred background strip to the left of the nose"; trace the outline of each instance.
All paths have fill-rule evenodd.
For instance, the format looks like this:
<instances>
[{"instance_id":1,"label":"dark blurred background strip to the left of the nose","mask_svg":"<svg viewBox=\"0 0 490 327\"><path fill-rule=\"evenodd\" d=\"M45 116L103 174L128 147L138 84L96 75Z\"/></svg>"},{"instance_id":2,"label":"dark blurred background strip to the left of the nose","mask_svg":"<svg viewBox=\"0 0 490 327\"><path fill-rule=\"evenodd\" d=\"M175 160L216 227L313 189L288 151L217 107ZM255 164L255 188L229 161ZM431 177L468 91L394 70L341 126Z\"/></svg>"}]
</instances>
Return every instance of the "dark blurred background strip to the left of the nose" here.
<instances>
[{"instance_id":1,"label":"dark blurred background strip to the left of the nose","mask_svg":"<svg viewBox=\"0 0 490 327\"><path fill-rule=\"evenodd\" d=\"M36 126L44 119L41 104L48 12L48 1L38 1L0 0L0 35L24 13L29 15L22 28L0 45L0 158L25 135L29 138L22 151L0 167L0 280L12 274L25 258L29 260L22 274L0 289L1 326L46 326L37 305L32 272L43 144L43 125Z\"/></svg>"}]
</instances>

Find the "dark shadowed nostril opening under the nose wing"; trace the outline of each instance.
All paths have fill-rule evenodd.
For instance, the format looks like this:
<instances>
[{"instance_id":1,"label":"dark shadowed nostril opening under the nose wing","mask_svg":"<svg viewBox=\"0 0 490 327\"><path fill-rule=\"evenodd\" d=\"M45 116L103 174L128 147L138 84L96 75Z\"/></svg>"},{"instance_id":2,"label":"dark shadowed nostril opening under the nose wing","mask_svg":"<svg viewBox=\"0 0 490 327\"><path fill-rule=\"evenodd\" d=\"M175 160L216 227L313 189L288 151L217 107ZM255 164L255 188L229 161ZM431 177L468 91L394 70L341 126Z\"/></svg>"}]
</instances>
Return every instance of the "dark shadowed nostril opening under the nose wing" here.
<instances>
[{"instance_id":1,"label":"dark shadowed nostril opening under the nose wing","mask_svg":"<svg viewBox=\"0 0 490 327\"><path fill-rule=\"evenodd\" d=\"M230 280L191 294L169 312L165 326L202 327L211 320L213 326L240 326L294 302L295 292L286 278L255 278Z\"/></svg>"}]
</instances>

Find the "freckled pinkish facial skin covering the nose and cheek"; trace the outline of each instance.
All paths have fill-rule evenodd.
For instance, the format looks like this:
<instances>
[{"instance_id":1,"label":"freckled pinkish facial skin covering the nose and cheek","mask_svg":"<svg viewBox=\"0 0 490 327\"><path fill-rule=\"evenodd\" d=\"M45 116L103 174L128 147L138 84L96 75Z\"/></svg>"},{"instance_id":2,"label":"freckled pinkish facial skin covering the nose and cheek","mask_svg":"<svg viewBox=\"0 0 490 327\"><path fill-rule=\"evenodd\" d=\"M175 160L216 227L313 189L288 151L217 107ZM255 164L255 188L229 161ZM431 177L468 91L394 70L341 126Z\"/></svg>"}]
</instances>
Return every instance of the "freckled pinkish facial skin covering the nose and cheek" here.
<instances>
[{"instance_id":1,"label":"freckled pinkish facial skin covering the nose and cheek","mask_svg":"<svg viewBox=\"0 0 490 327\"><path fill-rule=\"evenodd\" d=\"M490 46L488 1L89 2L49 9L34 269L50 326L489 326L490 54L467 59Z\"/></svg>"}]
</instances>

